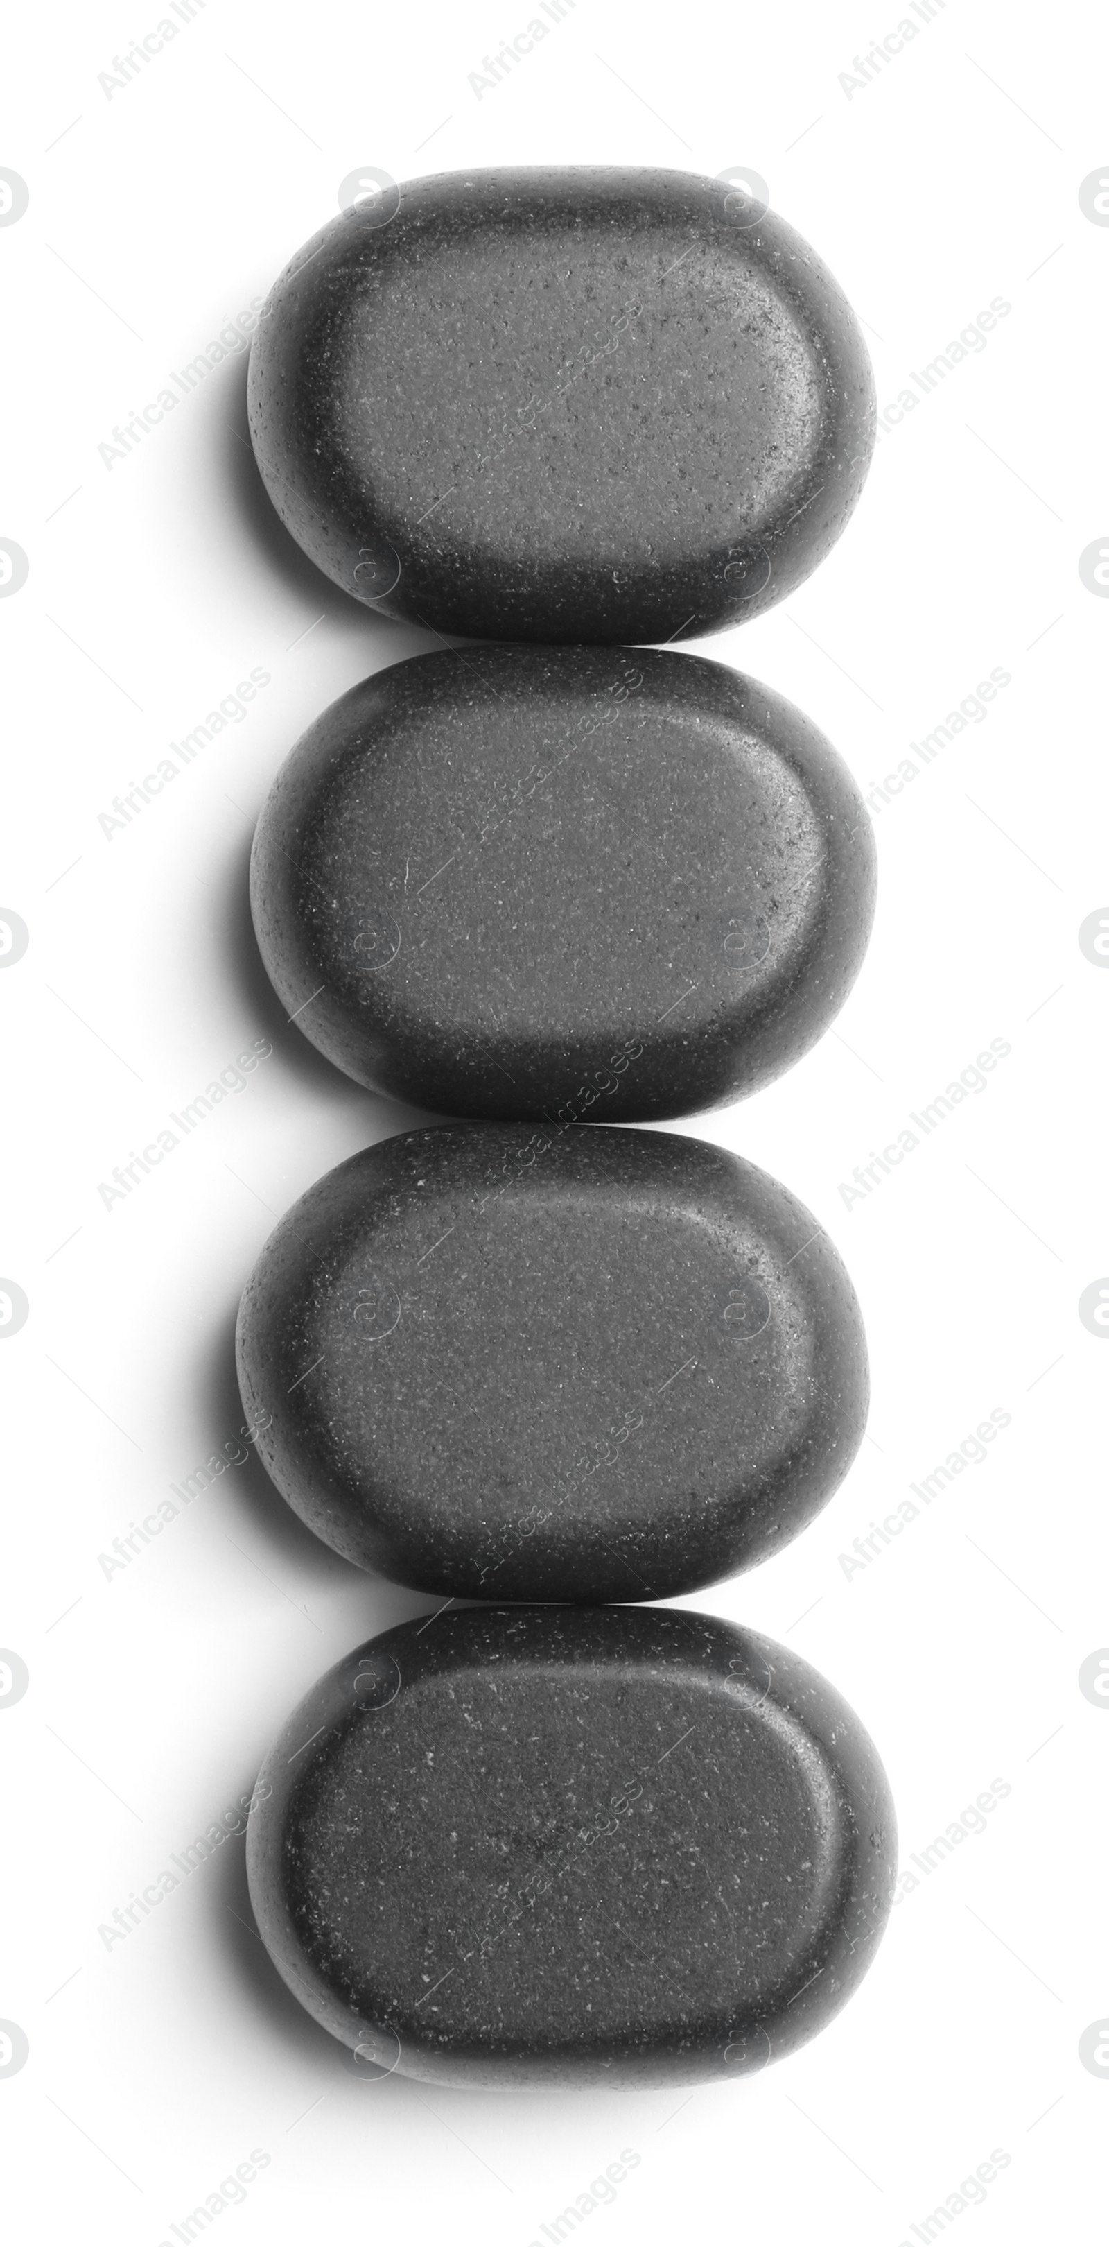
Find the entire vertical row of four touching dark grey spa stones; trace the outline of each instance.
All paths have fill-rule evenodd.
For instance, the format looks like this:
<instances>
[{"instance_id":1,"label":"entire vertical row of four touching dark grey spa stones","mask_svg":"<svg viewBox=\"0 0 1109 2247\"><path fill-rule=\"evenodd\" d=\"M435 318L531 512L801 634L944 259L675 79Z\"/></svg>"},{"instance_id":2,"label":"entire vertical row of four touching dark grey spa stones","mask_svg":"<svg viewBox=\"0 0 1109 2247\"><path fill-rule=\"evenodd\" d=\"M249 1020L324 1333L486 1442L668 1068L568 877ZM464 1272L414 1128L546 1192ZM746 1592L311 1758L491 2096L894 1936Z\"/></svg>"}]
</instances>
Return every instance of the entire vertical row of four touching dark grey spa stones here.
<instances>
[{"instance_id":1,"label":"entire vertical row of four touching dark grey spa stones","mask_svg":"<svg viewBox=\"0 0 1109 2247\"><path fill-rule=\"evenodd\" d=\"M867 1346L786 1186L624 1126L775 1079L867 946L846 766L671 647L833 546L873 443L867 351L808 245L723 182L458 173L299 252L249 398L294 539L442 640L287 757L258 944L339 1070L451 1119L319 1180L242 1299L278 1492L442 1602L276 1741L258 1926L370 2076L748 2074L876 1950L889 1789L804 1661L651 1602L826 1503Z\"/></svg>"}]
</instances>

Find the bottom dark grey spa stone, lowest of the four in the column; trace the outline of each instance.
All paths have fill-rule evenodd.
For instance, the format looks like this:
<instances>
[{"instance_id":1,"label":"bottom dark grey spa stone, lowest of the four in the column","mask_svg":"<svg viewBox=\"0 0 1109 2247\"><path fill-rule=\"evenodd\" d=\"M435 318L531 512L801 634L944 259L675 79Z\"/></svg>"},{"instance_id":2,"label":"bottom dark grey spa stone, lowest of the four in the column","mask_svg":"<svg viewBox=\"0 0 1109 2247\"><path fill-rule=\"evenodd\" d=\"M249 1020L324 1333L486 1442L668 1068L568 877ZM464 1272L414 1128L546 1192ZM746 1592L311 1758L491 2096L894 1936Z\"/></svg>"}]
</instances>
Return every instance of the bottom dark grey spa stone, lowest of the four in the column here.
<instances>
[{"instance_id":1,"label":"bottom dark grey spa stone, lowest of the four in the column","mask_svg":"<svg viewBox=\"0 0 1109 2247\"><path fill-rule=\"evenodd\" d=\"M471 1607L337 1663L274 1744L254 1914L366 2078L696 2085L878 1948L889 1784L797 1654L673 1609Z\"/></svg>"}]
</instances>

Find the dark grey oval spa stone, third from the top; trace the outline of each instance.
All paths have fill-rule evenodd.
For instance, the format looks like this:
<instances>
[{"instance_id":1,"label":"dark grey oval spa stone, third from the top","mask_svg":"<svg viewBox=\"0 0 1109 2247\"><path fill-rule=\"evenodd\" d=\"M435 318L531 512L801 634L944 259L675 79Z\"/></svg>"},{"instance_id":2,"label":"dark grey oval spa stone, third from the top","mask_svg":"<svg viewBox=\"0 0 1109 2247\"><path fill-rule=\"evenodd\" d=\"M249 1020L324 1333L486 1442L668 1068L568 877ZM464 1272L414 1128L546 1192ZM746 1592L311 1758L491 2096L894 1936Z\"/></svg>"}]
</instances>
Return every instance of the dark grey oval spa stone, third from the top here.
<instances>
[{"instance_id":1,"label":"dark grey oval spa stone, third from the top","mask_svg":"<svg viewBox=\"0 0 1109 2247\"><path fill-rule=\"evenodd\" d=\"M238 1317L272 1481L444 1598L667 1600L766 1559L862 1440L831 1240L703 1139L404 1132L272 1231Z\"/></svg>"}]
</instances>

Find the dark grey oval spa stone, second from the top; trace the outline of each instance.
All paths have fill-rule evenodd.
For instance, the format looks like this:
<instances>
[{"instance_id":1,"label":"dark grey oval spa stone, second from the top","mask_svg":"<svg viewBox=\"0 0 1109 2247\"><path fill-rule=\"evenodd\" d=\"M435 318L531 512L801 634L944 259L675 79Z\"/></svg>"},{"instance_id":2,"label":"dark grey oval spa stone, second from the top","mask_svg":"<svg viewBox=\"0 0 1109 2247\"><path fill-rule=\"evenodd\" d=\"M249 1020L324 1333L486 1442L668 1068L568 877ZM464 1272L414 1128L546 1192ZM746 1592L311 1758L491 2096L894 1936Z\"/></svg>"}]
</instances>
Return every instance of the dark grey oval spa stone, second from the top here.
<instances>
[{"instance_id":1,"label":"dark grey oval spa stone, second from the top","mask_svg":"<svg viewBox=\"0 0 1109 2247\"><path fill-rule=\"evenodd\" d=\"M269 791L254 926L285 1016L442 1115L673 1117L842 1007L873 834L817 728L723 663L469 647L350 688Z\"/></svg>"}]
</instances>

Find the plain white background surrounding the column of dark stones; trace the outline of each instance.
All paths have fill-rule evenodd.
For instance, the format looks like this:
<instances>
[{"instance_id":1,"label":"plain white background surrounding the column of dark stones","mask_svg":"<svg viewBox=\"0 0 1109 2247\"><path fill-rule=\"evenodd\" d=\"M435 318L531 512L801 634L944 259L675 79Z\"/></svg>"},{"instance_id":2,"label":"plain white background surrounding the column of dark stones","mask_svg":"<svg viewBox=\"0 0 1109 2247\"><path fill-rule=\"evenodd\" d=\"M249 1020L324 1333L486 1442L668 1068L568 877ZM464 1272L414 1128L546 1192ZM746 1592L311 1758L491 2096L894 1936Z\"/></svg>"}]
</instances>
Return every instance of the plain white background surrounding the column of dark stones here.
<instances>
[{"instance_id":1,"label":"plain white background surrounding the column of dark stones","mask_svg":"<svg viewBox=\"0 0 1109 2247\"><path fill-rule=\"evenodd\" d=\"M528 2247L622 2148L597 2247L680 2234L777 2247L918 2240L990 2162L959 2238L1091 2238L1109 2083L1078 2040L1109 2007L1100 1825L1109 1643L1096 1427L1109 1350L1078 1317L1109 1274L1109 611L1078 573L1109 533L1109 171L1096 13L947 0L844 88L885 7L577 0L512 79L496 7L209 0L123 88L99 74L159 0L34 9L7 36L0 903L0 1270L29 1317L0 1350L9 1472L0 1643L7 1838L0 2081L13 2240L157 2247L254 2148L227 2247L301 2236ZM916 18L918 20L918 18ZM887 1762L902 1865L995 1777L1010 1793L907 1892L878 1962L806 2052L691 2099L451 2094L352 2078L249 1930L242 1840L106 1948L99 1926L251 1786L339 1654L429 1609L317 1544L249 1463L106 1577L99 1553L233 1438L231 1323L274 1216L328 1166L420 1121L348 1085L283 1022L247 915L249 836L317 712L433 645L299 557L245 445L236 353L106 465L112 425L263 297L357 166L754 166L867 324L878 398L995 297L981 353L880 438L815 577L700 643L801 703L871 786L992 667L1010 685L876 813L867 966L819 1047L694 1119L766 1164L842 1247L873 1416L819 1521L689 1604L788 1638ZM251 667L272 683L126 831L99 813ZM110 1209L99 1184L218 1072L274 1054ZM840 1186L1001 1038L1008 1058L873 1191ZM1098 1380L1100 1377L1100 1380ZM1010 1427L867 1568L840 1562L995 1407ZM18 2209L13 2200L18 2198ZM207 2236L207 2231L204 2231ZM575 2234L577 2236L577 2234ZM927 2236L927 2234L925 2234Z\"/></svg>"}]
</instances>

